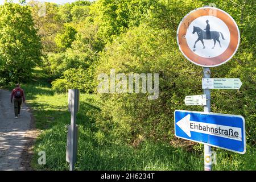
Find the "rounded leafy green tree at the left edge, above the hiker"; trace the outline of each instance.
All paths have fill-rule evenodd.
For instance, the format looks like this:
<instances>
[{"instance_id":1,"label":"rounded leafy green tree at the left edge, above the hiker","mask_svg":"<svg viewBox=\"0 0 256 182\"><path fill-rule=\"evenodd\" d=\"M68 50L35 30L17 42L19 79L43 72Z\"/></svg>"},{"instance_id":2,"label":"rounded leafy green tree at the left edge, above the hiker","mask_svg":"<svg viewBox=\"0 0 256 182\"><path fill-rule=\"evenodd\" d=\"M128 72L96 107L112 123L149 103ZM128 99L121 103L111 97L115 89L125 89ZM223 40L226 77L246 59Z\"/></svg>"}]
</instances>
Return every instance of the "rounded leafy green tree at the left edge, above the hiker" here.
<instances>
[{"instance_id":1,"label":"rounded leafy green tree at the left edge, above the hiker","mask_svg":"<svg viewBox=\"0 0 256 182\"><path fill-rule=\"evenodd\" d=\"M31 11L28 6L6 2L0 6L0 17L0 80L26 81L42 55Z\"/></svg>"}]
</instances>

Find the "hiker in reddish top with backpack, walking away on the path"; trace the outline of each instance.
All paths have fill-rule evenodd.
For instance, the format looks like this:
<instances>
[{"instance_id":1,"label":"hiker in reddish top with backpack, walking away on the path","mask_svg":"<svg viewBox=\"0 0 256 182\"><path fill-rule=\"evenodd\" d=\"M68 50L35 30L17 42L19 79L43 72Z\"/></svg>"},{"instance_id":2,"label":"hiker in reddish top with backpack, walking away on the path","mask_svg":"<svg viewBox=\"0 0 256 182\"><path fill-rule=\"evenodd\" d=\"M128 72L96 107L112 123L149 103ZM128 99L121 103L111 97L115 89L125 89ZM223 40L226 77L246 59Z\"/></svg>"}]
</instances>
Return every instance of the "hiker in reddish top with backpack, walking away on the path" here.
<instances>
[{"instance_id":1,"label":"hiker in reddish top with backpack, walking away on the path","mask_svg":"<svg viewBox=\"0 0 256 182\"><path fill-rule=\"evenodd\" d=\"M20 106L22 105L22 101L25 102L25 94L22 88L20 88L19 84L16 84L16 88L11 92L11 103L14 102L14 113L15 119L18 119L18 115L20 114Z\"/></svg>"}]
</instances>

